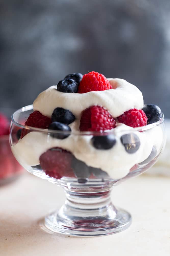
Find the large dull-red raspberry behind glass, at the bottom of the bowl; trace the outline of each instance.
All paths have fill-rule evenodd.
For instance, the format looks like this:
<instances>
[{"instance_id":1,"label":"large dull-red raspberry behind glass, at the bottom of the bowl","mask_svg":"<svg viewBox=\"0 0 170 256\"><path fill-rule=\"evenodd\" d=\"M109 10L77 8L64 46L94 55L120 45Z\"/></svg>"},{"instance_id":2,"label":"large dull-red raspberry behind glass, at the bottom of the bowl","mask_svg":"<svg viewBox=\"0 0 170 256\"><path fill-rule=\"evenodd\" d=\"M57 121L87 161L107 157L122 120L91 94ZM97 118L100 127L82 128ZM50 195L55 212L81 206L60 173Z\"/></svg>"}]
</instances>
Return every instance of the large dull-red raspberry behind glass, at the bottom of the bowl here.
<instances>
[{"instance_id":1,"label":"large dull-red raspberry behind glass, at the bottom of the bowl","mask_svg":"<svg viewBox=\"0 0 170 256\"><path fill-rule=\"evenodd\" d=\"M59 147L51 148L40 156L40 165L46 175L56 179L63 176L75 177L71 161L72 154Z\"/></svg>"}]
</instances>

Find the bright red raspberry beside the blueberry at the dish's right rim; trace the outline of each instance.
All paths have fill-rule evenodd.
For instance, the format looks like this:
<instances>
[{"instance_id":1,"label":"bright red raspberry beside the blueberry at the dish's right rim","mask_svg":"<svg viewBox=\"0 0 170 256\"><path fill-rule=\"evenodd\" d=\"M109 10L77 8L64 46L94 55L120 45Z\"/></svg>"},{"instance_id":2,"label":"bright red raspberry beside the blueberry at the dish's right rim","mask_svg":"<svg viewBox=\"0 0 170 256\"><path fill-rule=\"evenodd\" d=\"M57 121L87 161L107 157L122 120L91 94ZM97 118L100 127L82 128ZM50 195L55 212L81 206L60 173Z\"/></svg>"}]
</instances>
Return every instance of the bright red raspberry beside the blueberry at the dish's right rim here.
<instances>
[{"instance_id":1,"label":"bright red raspberry beside the blueberry at the dish's right rim","mask_svg":"<svg viewBox=\"0 0 170 256\"><path fill-rule=\"evenodd\" d=\"M148 118L143 110L130 109L118 116L117 120L131 127L140 127L147 125Z\"/></svg>"}]
</instances>

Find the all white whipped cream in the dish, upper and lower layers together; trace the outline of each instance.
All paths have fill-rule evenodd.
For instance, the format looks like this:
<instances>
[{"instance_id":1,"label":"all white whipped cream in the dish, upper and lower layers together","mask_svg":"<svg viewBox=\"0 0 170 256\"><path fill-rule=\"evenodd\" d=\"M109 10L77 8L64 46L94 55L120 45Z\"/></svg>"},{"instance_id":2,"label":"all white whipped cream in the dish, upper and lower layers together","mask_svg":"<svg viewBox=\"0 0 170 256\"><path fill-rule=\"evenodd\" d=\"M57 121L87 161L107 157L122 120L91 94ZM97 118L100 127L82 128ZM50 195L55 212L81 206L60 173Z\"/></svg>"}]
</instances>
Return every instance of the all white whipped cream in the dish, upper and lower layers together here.
<instances>
[{"instance_id":1,"label":"all white whipped cream in the dish, upper and lower layers together","mask_svg":"<svg viewBox=\"0 0 170 256\"><path fill-rule=\"evenodd\" d=\"M83 94L64 93L57 91L56 86L51 86L40 93L33 103L34 111L38 110L43 115L51 117L57 107L69 109L76 117L76 120L70 124L72 133L67 138L60 140L51 137L47 132L30 132L12 146L17 160L27 169L29 166L38 165L39 157L48 149L61 147L70 151L88 166L101 168L113 179L119 179L126 176L135 164L144 161L150 155L153 146L159 150L163 137L159 126L138 132L125 124L117 124L116 128L110 130L116 137L116 144L109 150L94 148L91 144L91 135L76 135L74 133L79 130L81 112L92 105L105 107L113 117L132 108L143 108L142 93L136 86L123 79L110 78L108 80L113 89L106 91ZM140 141L139 149L133 154L126 152L120 140L120 137L127 133L135 133Z\"/></svg>"}]
</instances>

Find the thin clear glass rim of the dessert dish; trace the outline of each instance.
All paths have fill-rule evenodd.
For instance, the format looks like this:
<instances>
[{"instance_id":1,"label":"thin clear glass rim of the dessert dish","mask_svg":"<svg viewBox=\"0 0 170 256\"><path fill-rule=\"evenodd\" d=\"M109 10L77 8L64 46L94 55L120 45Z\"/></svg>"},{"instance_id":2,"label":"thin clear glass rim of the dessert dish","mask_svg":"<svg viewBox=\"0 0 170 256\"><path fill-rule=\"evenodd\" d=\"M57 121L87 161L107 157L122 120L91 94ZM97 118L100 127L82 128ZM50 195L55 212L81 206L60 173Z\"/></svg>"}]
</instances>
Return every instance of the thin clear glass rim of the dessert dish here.
<instances>
[{"instance_id":1,"label":"thin clear glass rim of the dessert dish","mask_svg":"<svg viewBox=\"0 0 170 256\"><path fill-rule=\"evenodd\" d=\"M12 124L15 124L16 126L20 127L20 128L24 128L24 129L27 129L27 130L30 130L30 131L35 131L35 132L43 132L43 133L58 133L58 134L75 134L75 135L92 135L92 134L95 134L96 136L97 135L109 135L109 134L115 134L115 131L114 129L110 130L110 131L107 131L107 132L95 132L95 131L87 131L87 132L82 132L82 131L56 131L56 130L49 130L49 129L42 129L42 128L36 128L36 127L32 127L32 126L27 126L27 125L23 125L23 124L20 124L18 123L14 116L16 114L19 114L21 112L26 112L26 111L29 111L29 110L33 110L33 105L28 105L28 106L24 106L18 110L16 110L12 116L11 116L11 125ZM146 130L150 130L152 129L153 127L156 127L156 126L159 126L160 124L162 124L164 122L164 114L162 113L162 118L155 122L155 123L152 123L152 124L148 124L146 126L140 126L140 127L130 127L129 126L129 130L127 129L121 129L120 131L116 131L116 133L122 133L122 132L130 132L132 133L132 131L138 131L138 132L142 132L142 131L146 131Z\"/></svg>"}]
</instances>

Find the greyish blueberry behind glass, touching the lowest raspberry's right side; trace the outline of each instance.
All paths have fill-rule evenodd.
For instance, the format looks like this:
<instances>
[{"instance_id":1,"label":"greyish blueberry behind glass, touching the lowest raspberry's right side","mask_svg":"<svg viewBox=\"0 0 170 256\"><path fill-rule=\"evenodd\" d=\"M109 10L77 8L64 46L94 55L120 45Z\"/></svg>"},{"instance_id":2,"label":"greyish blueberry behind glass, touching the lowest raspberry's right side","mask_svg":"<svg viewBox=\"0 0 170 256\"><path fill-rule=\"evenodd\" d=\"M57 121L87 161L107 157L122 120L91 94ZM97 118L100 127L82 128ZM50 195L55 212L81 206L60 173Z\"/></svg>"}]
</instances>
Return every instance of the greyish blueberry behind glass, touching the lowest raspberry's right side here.
<instances>
[{"instance_id":1,"label":"greyish blueberry behind glass, touching the lowest raspberry's right side","mask_svg":"<svg viewBox=\"0 0 170 256\"><path fill-rule=\"evenodd\" d=\"M86 179L91 174L89 171L89 166L75 157L72 159L71 167L73 168L77 178Z\"/></svg>"}]
</instances>

